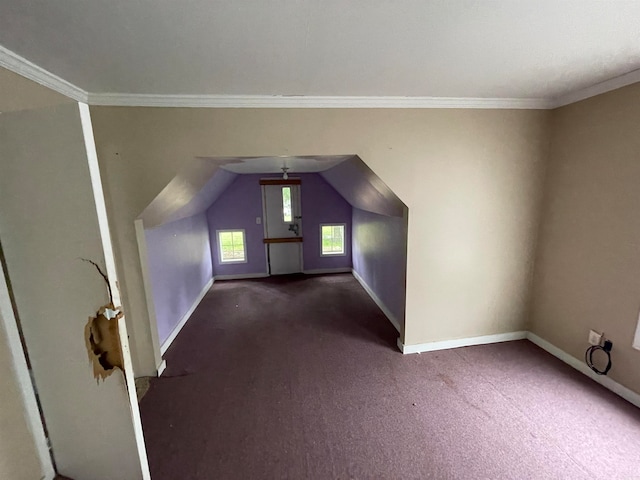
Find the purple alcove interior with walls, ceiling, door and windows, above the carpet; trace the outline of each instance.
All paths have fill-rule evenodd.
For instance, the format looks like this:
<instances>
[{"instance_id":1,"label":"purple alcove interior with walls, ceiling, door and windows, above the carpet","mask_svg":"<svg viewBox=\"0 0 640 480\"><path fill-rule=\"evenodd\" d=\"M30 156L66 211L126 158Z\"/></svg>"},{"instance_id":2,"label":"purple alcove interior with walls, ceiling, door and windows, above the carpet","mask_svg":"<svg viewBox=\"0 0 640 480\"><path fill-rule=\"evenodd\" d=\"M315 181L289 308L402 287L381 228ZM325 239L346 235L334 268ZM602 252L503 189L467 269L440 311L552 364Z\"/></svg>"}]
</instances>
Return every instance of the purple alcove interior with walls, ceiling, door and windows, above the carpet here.
<instances>
[{"instance_id":1,"label":"purple alcove interior with walls, ceiling, door and windows, above the carpet","mask_svg":"<svg viewBox=\"0 0 640 480\"><path fill-rule=\"evenodd\" d=\"M136 220L158 371L214 281L351 273L403 340L407 227L357 155L195 159Z\"/></svg>"}]
</instances>

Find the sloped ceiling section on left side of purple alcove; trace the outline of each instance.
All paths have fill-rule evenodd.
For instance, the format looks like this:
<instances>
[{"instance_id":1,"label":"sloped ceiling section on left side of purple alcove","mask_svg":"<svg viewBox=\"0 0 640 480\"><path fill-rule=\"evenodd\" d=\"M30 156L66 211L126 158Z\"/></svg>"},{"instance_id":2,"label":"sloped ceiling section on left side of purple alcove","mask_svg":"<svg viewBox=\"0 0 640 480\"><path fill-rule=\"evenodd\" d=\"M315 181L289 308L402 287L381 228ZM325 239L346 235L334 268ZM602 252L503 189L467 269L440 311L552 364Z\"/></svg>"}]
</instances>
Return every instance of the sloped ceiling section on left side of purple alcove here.
<instances>
[{"instance_id":1,"label":"sloped ceiling section on left side of purple alcove","mask_svg":"<svg viewBox=\"0 0 640 480\"><path fill-rule=\"evenodd\" d=\"M238 176L220 168L224 161L195 158L138 217L154 228L204 212Z\"/></svg>"}]
</instances>

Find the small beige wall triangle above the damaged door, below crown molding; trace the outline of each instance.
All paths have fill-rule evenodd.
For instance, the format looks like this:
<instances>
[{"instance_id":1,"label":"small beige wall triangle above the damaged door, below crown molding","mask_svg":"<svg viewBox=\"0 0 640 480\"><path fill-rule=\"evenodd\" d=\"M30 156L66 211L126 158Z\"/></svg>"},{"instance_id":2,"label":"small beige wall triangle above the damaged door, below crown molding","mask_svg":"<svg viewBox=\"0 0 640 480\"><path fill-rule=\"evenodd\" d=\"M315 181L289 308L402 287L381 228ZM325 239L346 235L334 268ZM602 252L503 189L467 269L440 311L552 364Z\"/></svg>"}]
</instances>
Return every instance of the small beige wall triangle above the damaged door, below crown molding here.
<instances>
[{"instance_id":1,"label":"small beige wall triangle above the damaged door, below crown molding","mask_svg":"<svg viewBox=\"0 0 640 480\"><path fill-rule=\"evenodd\" d=\"M74 101L0 67L0 113L50 107Z\"/></svg>"}]
</instances>

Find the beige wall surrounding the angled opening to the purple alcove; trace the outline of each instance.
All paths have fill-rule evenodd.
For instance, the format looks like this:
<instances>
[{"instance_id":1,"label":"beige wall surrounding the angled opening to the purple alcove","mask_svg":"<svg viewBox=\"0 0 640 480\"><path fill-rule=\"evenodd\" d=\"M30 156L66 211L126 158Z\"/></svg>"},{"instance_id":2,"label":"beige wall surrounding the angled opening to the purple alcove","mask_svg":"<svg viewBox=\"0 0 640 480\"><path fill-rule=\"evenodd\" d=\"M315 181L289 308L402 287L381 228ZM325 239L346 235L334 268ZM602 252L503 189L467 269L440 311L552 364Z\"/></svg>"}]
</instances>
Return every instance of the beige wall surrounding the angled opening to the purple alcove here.
<instances>
[{"instance_id":1,"label":"beige wall surrounding the angled opening to the purple alcove","mask_svg":"<svg viewBox=\"0 0 640 480\"><path fill-rule=\"evenodd\" d=\"M137 374L159 359L134 219L197 156L358 154L409 207L404 341L521 330L549 112L92 107Z\"/></svg>"}]
</instances>

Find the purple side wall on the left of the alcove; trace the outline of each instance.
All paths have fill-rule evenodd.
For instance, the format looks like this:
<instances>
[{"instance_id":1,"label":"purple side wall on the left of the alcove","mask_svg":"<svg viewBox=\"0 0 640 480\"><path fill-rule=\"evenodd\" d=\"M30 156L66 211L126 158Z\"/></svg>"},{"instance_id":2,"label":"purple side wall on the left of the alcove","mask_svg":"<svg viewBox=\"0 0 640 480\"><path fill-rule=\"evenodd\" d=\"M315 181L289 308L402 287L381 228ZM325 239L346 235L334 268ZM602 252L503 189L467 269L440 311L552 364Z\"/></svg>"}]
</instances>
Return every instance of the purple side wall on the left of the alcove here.
<instances>
[{"instance_id":1,"label":"purple side wall on the left of the alcove","mask_svg":"<svg viewBox=\"0 0 640 480\"><path fill-rule=\"evenodd\" d=\"M160 344L169 337L212 277L204 213L145 230L149 277Z\"/></svg>"}]
</instances>

